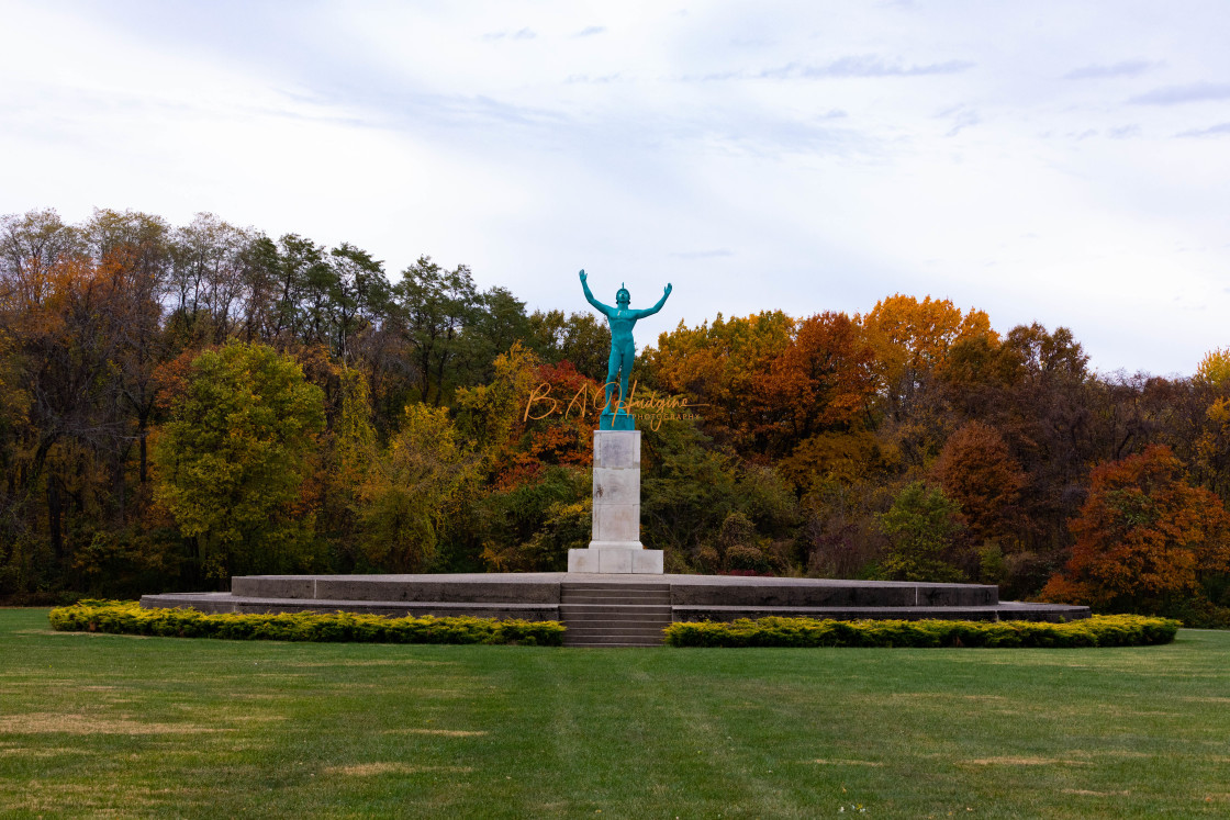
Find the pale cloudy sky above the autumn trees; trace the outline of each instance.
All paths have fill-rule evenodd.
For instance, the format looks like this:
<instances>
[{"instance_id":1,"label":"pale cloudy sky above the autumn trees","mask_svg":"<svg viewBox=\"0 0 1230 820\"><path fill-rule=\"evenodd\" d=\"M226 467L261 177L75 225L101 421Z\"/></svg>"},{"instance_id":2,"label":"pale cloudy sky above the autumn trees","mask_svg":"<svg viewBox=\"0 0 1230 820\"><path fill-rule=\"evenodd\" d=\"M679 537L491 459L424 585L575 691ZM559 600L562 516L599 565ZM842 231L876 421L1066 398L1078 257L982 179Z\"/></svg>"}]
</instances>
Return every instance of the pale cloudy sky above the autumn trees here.
<instances>
[{"instance_id":1,"label":"pale cloudy sky above the autumn trees","mask_svg":"<svg viewBox=\"0 0 1230 820\"><path fill-rule=\"evenodd\" d=\"M213 211L531 309L904 293L1230 345L1230 5L0 0L0 214Z\"/></svg>"}]
</instances>

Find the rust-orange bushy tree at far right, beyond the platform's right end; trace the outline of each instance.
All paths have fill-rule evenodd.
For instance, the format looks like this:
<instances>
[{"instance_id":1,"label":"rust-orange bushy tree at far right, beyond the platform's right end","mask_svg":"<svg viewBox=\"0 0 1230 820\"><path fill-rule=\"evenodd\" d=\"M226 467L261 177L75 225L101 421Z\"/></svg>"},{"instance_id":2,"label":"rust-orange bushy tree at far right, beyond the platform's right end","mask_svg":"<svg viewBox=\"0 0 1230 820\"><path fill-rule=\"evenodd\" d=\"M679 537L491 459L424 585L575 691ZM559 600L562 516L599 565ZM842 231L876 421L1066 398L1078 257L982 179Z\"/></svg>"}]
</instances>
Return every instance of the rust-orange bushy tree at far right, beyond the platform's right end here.
<instances>
[{"instance_id":1,"label":"rust-orange bushy tree at far right, beyond the platform's right end","mask_svg":"<svg viewBox=\"0 0 1230 820\"><path fill-rule=\"evenodd\" d=\"M1230 573L1230 516L1165 446L1096 467L1070 529L1071 558L1044 600L1167 612Z\"/></svg>"}]
</instances>

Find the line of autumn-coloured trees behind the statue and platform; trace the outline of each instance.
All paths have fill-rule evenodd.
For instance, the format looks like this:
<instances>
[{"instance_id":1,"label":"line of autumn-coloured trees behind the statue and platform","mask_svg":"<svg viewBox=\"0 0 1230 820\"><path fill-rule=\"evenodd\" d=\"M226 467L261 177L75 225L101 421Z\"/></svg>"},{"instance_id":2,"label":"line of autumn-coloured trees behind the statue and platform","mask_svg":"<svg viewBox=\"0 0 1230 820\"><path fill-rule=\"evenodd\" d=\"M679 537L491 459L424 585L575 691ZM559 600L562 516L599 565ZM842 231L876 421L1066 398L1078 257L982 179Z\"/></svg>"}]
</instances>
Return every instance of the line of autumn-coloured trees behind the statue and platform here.
<instances>
[{"instance_id":1,"label":"line of autumn-coloured trees behind the statue and platform","mask_svg":"<svg viewBox=\"0 0 1230 820\"><path fill-rule=\"evenodd\" d=\"M258 572L556 570L609 332L465 266L200 214L0 218L0 596ZM637 359L668 572L995 583L1221 623L1230 355L1098 374L1070 331L893 295L718 316ZM691 418L699 416L699 418Z\"/></svg>"}]
</instances>

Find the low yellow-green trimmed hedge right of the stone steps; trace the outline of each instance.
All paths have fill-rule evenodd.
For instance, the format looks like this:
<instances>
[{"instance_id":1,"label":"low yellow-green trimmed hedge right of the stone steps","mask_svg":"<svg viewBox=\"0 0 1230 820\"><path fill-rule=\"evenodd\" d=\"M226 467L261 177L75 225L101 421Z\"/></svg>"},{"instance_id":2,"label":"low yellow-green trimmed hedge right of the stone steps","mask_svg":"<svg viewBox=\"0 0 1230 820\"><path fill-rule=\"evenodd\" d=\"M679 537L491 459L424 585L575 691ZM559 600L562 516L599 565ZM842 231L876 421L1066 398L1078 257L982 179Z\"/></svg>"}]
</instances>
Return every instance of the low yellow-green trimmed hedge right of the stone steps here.
<instances>
[{"instance_id":1,"label":"low yellow-green trimmed hedge right of the stone steps","mask_svg":"<svg viewBox=\"0 0 1230 820\"><path fill-rule=\"evenodd\" d=\"M1033 621L753 621L672 623L674 647L1138 647L1170 643L1180 622L1097 615L1068 623Z\"/></svg>"}]
</instances>

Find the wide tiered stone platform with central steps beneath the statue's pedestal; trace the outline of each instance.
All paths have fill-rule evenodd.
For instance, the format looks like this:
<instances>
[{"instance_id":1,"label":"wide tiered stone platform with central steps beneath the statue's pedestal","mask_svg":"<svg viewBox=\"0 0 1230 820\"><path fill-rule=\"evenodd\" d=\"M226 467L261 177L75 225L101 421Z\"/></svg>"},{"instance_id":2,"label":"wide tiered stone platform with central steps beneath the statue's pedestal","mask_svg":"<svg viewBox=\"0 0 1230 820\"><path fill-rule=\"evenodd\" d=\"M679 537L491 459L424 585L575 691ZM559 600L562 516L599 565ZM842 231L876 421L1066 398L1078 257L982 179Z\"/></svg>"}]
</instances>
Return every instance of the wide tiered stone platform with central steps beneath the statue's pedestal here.
<instances>
[{"instance_id":1,"label":"wide tiered stone platform with central steps beneath the statue's pedestal","mask_svg":"<svg viewBox=\"0 0 1230 820\"><path fill-rule=\"evenodd\" d=\"M979 584L604 573L248 575L232 578L230 593L144 595L141 606L563 621L571 633L566 643L573 645L651 645L662 642L662 627L672 621L769 615L841 621L1071 621L1090 615L1085 606L1000 601L998 588Z\"/></svg>"}]
</instances>

